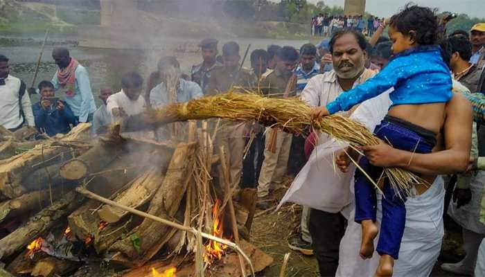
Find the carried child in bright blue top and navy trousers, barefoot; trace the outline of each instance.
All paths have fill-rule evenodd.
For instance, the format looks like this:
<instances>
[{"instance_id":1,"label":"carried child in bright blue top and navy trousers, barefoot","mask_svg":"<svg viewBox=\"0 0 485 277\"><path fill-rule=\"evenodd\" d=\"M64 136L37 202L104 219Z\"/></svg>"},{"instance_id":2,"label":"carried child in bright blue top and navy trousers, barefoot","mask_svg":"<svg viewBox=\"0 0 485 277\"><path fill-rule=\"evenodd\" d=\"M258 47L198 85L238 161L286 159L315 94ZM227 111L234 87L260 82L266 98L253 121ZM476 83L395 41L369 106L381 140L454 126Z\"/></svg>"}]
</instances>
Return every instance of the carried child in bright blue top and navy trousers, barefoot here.
<instances>
[{"instance_id":1,"label":"carried child in bright blue top and navy trousers, barefoot","mask_svg":"<svg viewBox=\"0 0 485 277\"><path fill-rule=\"evenodd\" d=\"M364 100L394 88L389 94L392 105L374 134L394 148L430 153L436 134L443 125L446 102L452 98L450 69L443 62L438 40L438 24L429 8L406 6L391 17L389 37L394 58L374 78L340 94L326 107L312 111L312 116L326 116L347 111ZM374 180L382 168L361 157L360 167ZM384 179L382 220L376 251L380 262L376 276L392 276L398 258L406 220L405 193L391 188ZM360 256L370 258L376 238L376 191L360 170L355 173L355 222L362 224Z\"/></svg>"}]
</instances>

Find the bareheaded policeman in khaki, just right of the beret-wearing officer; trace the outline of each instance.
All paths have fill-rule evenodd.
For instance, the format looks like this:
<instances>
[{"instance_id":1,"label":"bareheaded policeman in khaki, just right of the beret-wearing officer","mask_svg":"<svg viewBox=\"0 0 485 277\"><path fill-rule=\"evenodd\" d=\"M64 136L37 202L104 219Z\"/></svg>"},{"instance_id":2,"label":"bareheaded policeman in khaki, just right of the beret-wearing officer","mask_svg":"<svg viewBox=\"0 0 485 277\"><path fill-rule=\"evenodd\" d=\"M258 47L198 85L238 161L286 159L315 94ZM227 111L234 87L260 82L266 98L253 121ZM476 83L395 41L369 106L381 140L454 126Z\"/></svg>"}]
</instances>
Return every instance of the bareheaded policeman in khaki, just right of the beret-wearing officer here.
<instances>
[{"instance_id":1,"label":"bareheaded policeman in khaki, just right of the beret-wearing officer","mask_svg":"<svg viewBox=\"0 0 485 277\"><path fill-rule=\"evenodd\" d=\"M240 69L239 45L236 42L227 42L222 46L222 66L217 67L211 73L206 95L224 93L231 87L254 87L256 76L247 69ZM244 134L248 133L245 123L230 123L223 121L218 130L215 147L219 151L221 145L227 153L229 162L231 188L238 186L243 170L243 152L245 147ZM222 168L220 168L219 172ZM220 175L219 181L222 182Z\"/></svg>"}]
</instances>

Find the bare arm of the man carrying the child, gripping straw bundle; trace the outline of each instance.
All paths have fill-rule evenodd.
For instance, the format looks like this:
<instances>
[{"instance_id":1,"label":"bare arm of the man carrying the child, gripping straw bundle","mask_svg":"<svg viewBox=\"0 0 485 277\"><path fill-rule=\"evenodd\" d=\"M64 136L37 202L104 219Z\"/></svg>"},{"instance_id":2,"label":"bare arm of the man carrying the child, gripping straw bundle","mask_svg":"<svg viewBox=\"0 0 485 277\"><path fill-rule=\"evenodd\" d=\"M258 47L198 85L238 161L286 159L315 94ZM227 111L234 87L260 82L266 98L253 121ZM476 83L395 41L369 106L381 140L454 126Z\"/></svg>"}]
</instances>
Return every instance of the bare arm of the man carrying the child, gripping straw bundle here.
<instances>
[{"instance_id":1,"label":"bare arm of the man carrying the child, gripping straw bundle","mask_svg":"<svg viewBox=\"0 0 485 277\"><path fill-rule=\"evenodd\" d=\"M470 102L454 93L446 106L443 151L417 154L391 148L386 143L364 146L362 150L374 166L405 168L423 175L464 172L470 157L472 120Z\"/></svg>"}]
</instances>

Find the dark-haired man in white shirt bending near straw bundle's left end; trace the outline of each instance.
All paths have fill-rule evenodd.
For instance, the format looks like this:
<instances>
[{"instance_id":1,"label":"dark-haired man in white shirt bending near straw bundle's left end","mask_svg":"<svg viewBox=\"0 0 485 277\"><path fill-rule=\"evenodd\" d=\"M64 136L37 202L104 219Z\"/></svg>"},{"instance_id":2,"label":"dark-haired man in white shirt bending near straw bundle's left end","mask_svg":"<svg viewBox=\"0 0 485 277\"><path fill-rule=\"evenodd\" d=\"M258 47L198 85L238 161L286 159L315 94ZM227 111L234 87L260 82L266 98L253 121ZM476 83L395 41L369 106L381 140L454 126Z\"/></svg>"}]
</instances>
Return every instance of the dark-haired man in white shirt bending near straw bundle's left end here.
<instances>
[{"instance_id":1,"label":"dark-haired man in white shirt bending near straw bundle's left end","mask_svg":"<svg viewBox=\"0 0 485 277\"><path fill-rule=\"evenodd\" d=\"M106 101L106 109L113 122L141 114L145 108L145 99L141 96L143 78L138 73L130 72L121 79L121 91L114 93Z\"/></svg>"}]
</instances>

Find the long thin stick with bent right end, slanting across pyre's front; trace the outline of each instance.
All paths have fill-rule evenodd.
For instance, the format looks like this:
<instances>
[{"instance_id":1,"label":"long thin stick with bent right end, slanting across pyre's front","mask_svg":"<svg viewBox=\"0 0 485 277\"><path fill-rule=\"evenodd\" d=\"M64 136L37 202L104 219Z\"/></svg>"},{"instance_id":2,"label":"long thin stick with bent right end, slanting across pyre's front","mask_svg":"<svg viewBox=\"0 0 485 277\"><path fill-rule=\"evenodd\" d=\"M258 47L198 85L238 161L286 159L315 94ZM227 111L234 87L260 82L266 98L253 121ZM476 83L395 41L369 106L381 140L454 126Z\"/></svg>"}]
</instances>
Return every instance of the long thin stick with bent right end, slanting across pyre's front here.
<instances>
[{"instance_id":1,"label":"long thin stick with bent right end, slanting across pyre's front","mask_svg":"<svg viewBox=\"0 0 485 277\"><path fill-rule=\"evenodd\" d=\"M99 202L103 202L105 204L112 205L112 206L115 206L117 208L121 208L125 211L129 211L130 213L133 213L134 215L139 215L141 217L145 217L145 218L148 218L150 220L160 222L161 224L166 224L166 225L173 227L175 229L191 232L194 235L200 235L202 238L206 238L206 239L209 239L209 240L213 240L215 242L225 244L228 247L231 247L232 249L234 249L236 252L240 253L240 255L243 256L243 258L245 258L245 260L249 263L249 267L251 267L252 276L255 276L254 275L254 267L253 267L251 260L249 260L249 257L243 252L242 249L240 249L238 244L236 244L234 242L230 242L229 240L224 240L222 238L215 237L214 235L209 235L208 233L197 231L196 229L193 229L191 227L184 226L182 224L178 224L178 223L175 223L175 222L171 222L170 220L164 220L161 217L157 217L155 215L150 215L149 213L144 213L142 211L136 210L135 208L130 208L128 206L118 204L117 202L109 200L105 197L100 197L99 195L96 195L95 193L91 193L89 190L87 190L86 188L83 188L83 187L76 188L76 191L78 193L80 193L81 195L84 195L85 197L98 200Z\"/></svg>"}]
</instances>

